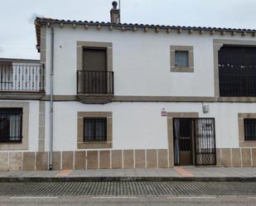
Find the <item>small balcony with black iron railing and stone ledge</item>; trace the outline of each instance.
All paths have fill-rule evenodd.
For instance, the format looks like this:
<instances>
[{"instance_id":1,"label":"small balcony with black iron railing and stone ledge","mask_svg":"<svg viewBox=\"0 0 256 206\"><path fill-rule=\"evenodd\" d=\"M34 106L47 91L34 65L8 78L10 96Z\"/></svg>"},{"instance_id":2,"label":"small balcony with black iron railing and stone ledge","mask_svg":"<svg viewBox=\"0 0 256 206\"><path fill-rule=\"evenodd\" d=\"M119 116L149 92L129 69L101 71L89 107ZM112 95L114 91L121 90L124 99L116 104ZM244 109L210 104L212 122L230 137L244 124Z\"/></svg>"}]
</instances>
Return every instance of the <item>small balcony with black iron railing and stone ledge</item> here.
<instances>
[{"instance_id":1,"label":"small balcony with black iron railing and stone ledge","mask_svg":"<svg viewBox=\"0 0 256 206\"><path fill-rule=\"evenodd\" d=\"M114 72L77 71L77 95L84 103L108 103L114 96Z\"/></svg>"}]
</instances>

